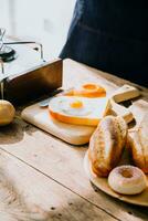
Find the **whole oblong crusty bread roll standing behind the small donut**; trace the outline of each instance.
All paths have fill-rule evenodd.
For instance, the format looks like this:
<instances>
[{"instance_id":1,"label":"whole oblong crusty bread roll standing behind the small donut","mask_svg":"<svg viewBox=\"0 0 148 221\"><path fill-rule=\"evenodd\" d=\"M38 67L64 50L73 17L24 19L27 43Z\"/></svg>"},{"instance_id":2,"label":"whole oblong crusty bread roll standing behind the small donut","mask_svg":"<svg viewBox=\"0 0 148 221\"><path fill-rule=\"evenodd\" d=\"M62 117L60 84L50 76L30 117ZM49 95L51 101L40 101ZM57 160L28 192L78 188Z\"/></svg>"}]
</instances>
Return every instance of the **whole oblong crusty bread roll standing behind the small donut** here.
<instances>
[{"instance_id":1,"label":"whole oblong crusty bread roll standing behind the small donut","mask_svg":"<svg viewBox=\"0 0 148 221\"><path fill-rule=\"evenodd\" d=\"M127 125L117 116L106 116L89 140L88 157L94 173L107 177L120 160L127 137Z\"/></svg>"}]
</instances>

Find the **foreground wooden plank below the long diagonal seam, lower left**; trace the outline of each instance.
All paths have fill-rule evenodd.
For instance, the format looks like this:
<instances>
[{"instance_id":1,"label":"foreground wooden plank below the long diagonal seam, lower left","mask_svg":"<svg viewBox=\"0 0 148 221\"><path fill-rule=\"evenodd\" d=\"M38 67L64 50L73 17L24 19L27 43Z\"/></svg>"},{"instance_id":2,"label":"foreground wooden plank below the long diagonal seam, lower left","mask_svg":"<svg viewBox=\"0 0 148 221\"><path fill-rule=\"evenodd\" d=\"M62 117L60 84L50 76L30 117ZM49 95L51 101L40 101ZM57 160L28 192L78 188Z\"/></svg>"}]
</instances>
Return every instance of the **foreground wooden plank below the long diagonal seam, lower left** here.
<instances>
[{"instance_id":1,"label":"foreground wooden plank below the long diagonal seam, lower left","mask_svg":"<svg viewBox=\"0 0 148 221\"><path fill-rule=\"evenodd\" d=\"M1 221L116 221L54 180L0 150Z\"/></svg>"}]
</instances>

